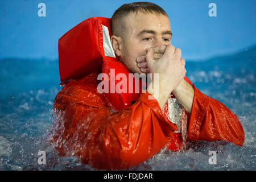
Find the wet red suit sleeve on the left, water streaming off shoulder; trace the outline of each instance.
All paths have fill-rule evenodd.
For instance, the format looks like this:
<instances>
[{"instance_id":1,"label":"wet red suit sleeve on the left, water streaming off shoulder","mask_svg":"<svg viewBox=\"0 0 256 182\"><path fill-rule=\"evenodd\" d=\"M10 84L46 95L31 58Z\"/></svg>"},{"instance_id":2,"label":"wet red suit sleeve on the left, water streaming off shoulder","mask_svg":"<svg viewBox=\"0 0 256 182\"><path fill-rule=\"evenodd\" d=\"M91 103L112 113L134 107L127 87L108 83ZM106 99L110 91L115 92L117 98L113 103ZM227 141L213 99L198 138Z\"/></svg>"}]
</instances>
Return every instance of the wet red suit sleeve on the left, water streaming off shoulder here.
<instances>
[{"instance_id":1,"label":"wet red suit sleeve on the left, water streaming off shoulder","mask_svg":"<svg viewBox=\"0 0 256 182\"><path fill-rule=\"evenodd\" d=\"M142 93L137 102L112 112L97 92L97 75L71 81L57 94L53 108L64 113L64 130L55 124L52 142L60 154L72 151L97 169L123 169L144 162L161 150L177 126L168 121L156 100ZM59 142L58 142L59 141Z\"/></svg>"}]
</instances>

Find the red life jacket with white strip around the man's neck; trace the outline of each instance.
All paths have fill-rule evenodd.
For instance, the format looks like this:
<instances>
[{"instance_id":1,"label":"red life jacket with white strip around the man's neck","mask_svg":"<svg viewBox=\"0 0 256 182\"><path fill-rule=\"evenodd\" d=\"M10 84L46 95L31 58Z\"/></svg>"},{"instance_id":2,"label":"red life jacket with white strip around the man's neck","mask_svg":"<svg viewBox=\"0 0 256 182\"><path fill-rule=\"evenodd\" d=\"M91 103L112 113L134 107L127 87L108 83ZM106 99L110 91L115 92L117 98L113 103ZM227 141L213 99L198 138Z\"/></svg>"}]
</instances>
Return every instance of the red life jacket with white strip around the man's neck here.
<instances>
[{"instance_id":1,"label":"red life jacket with white strip around the man's neck","mask_svg":"<svg viewBox=\"0 0 256 182\"><path fill-rule=\"evenodd\" d=\"M59 69L61 84L72 79L88 75L91 72L106 73L110 84L117 85L121 80L110 81L110 70L114 69L113 78L123 73L128 78L130 71L118 61L110 42L110 19L92 17L77 24L59 39ZM103 78L101 78L103 80ZM129 81L127 85L129 88ZM115 90L116 91L116 90ZM114 110L121 110L136 101L139 93L104 93L106 104Z\"/></svg>"}]
</instances>

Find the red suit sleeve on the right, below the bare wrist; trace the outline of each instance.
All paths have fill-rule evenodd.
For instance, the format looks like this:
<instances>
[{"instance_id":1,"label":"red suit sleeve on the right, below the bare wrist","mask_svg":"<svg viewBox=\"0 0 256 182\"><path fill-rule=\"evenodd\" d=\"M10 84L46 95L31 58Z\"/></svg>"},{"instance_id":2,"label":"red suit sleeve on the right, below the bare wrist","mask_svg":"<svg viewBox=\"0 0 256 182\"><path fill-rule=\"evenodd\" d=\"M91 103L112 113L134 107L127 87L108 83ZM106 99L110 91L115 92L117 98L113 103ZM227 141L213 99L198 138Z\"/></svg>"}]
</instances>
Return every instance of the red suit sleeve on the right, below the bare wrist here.
<instances>
[{"instance_id":1,"label":"red suit sleeve on the right, below the bare wrist","mask_svg":"<svg viewBox=\"0 0 256 182\"><path fill-rule=\"evenodd\" d=\"M187 140L226 140L242 146L245 133L236 114L193 85L195 95L188 122Z\"/></svg>"}]
</instances>

